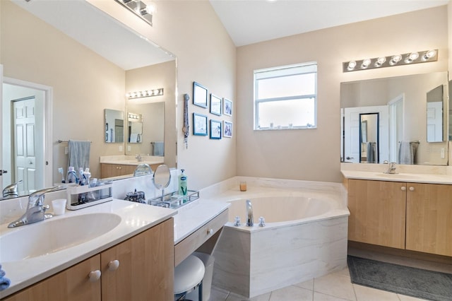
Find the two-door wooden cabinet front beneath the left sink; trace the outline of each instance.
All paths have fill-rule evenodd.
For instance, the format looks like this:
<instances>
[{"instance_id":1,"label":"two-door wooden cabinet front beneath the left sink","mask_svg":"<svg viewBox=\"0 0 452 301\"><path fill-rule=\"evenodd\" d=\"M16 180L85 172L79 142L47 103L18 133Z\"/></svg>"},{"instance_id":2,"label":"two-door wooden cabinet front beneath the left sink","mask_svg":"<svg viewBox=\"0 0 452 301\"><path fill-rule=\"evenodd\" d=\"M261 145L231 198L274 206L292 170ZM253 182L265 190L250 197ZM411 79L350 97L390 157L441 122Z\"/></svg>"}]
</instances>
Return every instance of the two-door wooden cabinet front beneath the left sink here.
<instances>
[{"instance_id":1,"label":"two-door wooden cabinet front beneath the left sink","mask_svg":"<svg viewBox=\"0 0 452 301\"><path fill-rule=\"evenodd\" d=\"M3 301L174 300L173 219L85 259ZM110 262L118 260L115 269ZM91 282L91 271L101 271Z\"/></svg>"}]
</instances>

